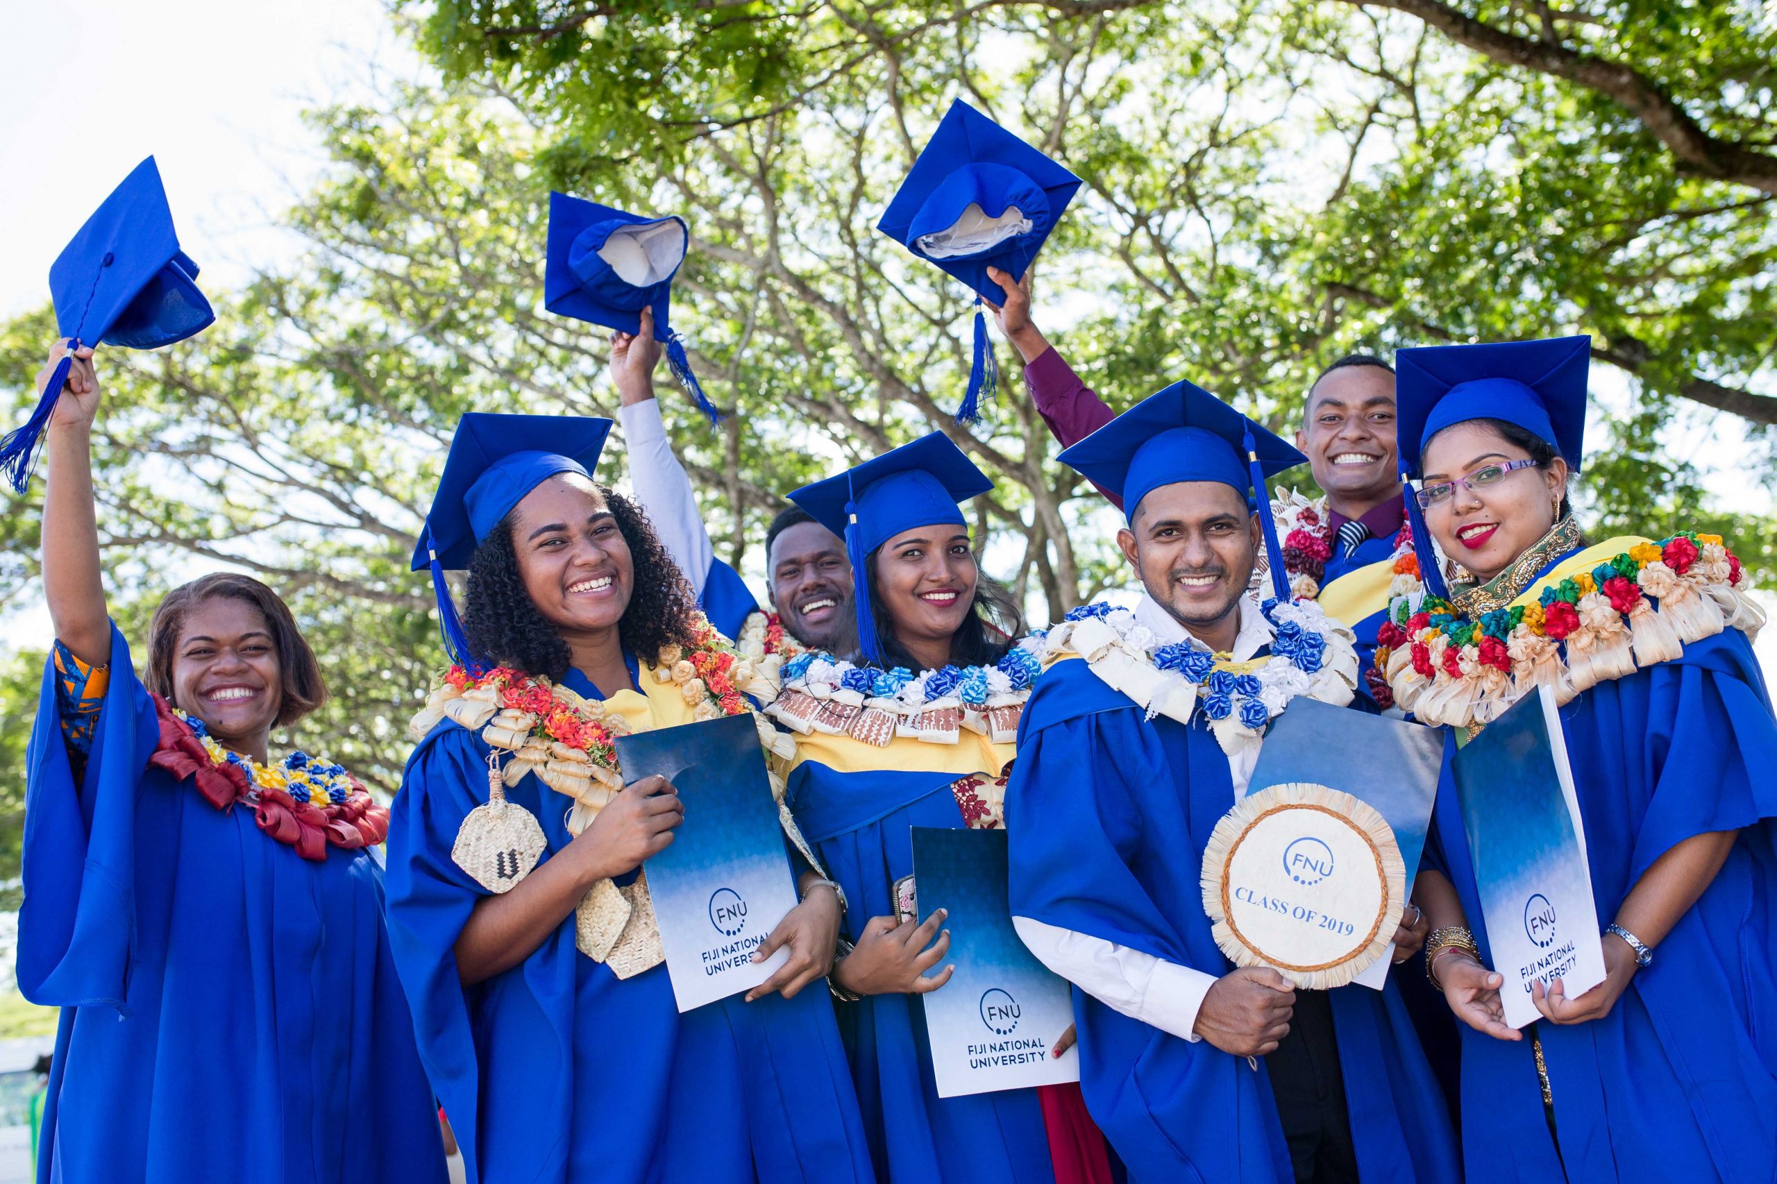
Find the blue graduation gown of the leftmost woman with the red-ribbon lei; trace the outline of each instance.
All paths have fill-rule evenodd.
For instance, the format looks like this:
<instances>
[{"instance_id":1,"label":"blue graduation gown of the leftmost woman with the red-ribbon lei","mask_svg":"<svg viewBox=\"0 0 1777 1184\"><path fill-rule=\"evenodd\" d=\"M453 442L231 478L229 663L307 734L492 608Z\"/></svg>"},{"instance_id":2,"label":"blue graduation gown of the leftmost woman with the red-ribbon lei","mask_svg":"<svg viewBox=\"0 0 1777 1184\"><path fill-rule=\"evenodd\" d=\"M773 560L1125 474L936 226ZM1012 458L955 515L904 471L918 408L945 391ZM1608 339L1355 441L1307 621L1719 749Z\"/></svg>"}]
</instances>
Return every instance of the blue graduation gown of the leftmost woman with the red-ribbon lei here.
<instances>
[{"instance_id":1,"label":"blue graduation gown of the leftmost woman with the red-ribbon lei","mask_svg":"<svg viewBox=\"0 0 1777 1184\"><path fill-rule=\"evenodd\" d=\"M370 852L311 862L151 768L112 629L78 780L55 665L30 738L18 983L60 1006L37 1179L444 1180Z\"/></svg>"}]
</instances>

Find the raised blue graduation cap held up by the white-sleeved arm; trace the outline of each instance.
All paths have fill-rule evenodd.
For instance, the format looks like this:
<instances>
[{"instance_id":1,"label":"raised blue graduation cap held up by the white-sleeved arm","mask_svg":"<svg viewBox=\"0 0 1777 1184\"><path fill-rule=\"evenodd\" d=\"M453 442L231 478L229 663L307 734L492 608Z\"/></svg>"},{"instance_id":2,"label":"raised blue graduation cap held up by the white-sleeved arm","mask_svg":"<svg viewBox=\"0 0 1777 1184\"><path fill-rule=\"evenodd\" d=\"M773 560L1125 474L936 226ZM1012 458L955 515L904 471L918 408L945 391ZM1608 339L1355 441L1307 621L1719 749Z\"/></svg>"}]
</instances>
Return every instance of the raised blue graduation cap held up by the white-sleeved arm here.
<instances>
[{"instance_id":1,"label":"raised blue graduation cap held up by the white-sleeved arm","mask_svg":"<svg viewBox=\"0 0 1777 1184\"><path fill-rule=\"evenodd\" d=\"M691 373L684 340L666 318L672 279L689 244L691 231L681 217L645 219L583 197L549 194L544 308L618 332L640 332L641 309L654 309L654 340L666 343L673 377L711 423L721 423L721 412Z\"/></svg>"}]
</instances>

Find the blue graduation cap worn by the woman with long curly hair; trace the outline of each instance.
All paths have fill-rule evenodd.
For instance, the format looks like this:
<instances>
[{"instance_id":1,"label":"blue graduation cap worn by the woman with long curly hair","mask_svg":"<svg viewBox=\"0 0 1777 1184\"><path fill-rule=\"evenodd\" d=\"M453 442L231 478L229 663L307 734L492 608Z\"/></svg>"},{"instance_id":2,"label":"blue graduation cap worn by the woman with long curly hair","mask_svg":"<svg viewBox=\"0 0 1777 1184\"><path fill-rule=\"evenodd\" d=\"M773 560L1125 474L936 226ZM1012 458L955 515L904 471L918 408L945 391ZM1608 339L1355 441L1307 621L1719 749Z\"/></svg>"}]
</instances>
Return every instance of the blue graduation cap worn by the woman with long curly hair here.
<instances>
[{"instance_id":1,"label":"blue graduation cap worn by the woman with long curly hair","mask_svg":"<svg viewBox=\"0 0 1777 1184\"><path fill-rule=\"evenodd\" d=\"M432 572L439 628L453 661L474 665L462 619L444 583L446 571L469 565L478 542L512 512L524 494L556 473L590 478L611 432L610 420L590 416L503 416L471 411L457 421L444 473L432 496L425 533L414 548L414 571Z\"/></svg>"}]
</instances>

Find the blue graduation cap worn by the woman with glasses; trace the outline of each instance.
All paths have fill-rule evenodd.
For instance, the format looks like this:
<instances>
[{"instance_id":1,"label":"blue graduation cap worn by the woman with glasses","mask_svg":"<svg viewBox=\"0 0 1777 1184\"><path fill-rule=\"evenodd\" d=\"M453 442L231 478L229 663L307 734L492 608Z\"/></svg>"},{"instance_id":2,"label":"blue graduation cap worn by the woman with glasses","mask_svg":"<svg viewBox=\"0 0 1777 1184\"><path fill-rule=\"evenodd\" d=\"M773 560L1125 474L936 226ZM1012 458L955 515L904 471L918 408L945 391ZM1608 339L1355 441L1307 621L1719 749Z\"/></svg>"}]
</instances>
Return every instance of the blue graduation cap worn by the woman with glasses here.
<instances>
[{"instance_id":1,"label":"blue graduation cap worn by the woman with glasses","mask_svg":"<svg viewBox=\"0 0 1777 1184\"><path fill-rule=\"evenodd\" d=\"M1585 384L1590 366L1592 338L1587 334L1539 341L1423 345L1395 354L1400 480L1407 485L1414 551L1436 555L1409 480L1423 478L1425 444L1432 436L1470 420L1503 420L1553 444L1567 468L1578 473L1585 450ZM1420 572L1432 596L1448 596L1436 562L1422 562Z\"/></svg>"}]
</instances>

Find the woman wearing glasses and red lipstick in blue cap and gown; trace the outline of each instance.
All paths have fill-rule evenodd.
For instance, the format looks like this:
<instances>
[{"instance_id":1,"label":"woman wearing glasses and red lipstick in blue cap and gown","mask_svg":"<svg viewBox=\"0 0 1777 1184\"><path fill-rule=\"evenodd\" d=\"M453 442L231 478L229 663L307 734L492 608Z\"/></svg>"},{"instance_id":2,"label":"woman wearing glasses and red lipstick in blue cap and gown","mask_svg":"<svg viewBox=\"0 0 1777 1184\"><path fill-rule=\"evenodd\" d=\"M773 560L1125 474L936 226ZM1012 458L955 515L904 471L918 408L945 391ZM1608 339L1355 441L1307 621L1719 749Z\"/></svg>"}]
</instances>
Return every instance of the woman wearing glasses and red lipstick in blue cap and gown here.
<instances>
[{"instance_id":1,"label":"woman wearing glasses and red lipstick in blue cap and gown","mask_svg":"<svg viewBox=\"0 0 1777 1184\"><path fill-rule=\"evenodd\" d=\"M1423 871L1425 967L1464 1029L1462 1145L1484 1180L1770 1180L1777 1170L1777 722L1763 613L1722 539L1587 546L1569 512L1589 338L1402 350L1400 453L1427 564L1377 665L1429 724L1477 732L1539 684L1562 702L1606 980L1510 988L1448 772L1448 875ZM1422 546L1422 553L1429 548Z\"/></svg>"}]
</instances>

